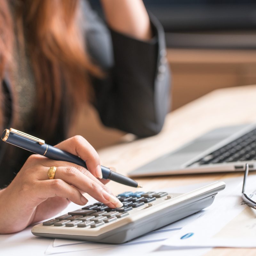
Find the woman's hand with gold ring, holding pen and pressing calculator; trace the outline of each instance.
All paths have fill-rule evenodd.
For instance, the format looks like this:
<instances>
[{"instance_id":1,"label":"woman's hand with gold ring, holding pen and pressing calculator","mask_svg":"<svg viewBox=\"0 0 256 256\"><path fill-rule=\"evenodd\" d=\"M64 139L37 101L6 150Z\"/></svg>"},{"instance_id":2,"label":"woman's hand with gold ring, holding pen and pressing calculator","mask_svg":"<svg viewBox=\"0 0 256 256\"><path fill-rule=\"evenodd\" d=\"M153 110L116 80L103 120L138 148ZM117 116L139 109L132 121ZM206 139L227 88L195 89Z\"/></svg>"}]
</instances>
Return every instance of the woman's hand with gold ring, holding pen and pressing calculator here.
<instances>
[{"instance_id":1,"label":"woman's hand with gold ring, holding pen and pressing calculator","mask_svg":"<svg viewBox=\"0 0 256 256\"><path fill-rule=\"evenodd\" d=\"M82 166L30 156L11 184L0 191L0 234L13 233L34 222L50 218L63 210L70 201L84 205L88 193L108 207L123 204L98 180L102 178L100 159L95 149L81 136L75 136L55 146L86 161ZM56 166L53 180L48 170Z\"/></svg>"}]
</instances>

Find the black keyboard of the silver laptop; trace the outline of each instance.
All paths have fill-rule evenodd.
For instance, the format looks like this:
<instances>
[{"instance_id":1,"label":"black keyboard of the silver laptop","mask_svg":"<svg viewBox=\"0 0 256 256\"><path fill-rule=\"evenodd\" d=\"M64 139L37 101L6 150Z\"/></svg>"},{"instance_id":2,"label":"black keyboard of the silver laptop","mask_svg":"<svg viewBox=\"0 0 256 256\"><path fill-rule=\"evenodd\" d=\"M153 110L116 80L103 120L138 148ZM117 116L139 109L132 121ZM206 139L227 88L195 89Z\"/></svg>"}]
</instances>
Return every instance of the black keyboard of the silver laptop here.
<instances>
[{"instance_id":1,"label":"black keyboard of the silver laptop","mask_svg":"<svg viewBox=\"0 0 256 256\"><path fill-rule=\"evenodd\" d=\"M189 164L218 164L256 159L256 129Z\"/></svg>"}]
</instances>

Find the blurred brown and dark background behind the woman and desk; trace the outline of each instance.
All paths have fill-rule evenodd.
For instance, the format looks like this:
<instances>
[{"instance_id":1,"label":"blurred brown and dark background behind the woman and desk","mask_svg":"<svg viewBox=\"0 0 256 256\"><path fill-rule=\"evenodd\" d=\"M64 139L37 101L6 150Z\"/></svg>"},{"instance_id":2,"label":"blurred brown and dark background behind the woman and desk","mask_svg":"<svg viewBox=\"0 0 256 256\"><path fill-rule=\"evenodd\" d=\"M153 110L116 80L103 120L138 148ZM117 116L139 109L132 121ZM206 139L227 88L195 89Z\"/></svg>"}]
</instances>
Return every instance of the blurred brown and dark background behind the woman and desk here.
<instances>
[{"instance_id":1,"label":"blurred brown and dark background behind the woman and desk","mask_svg":"<svg viewBox=\"0 0 256 256\"><path fill-rule=\"evenodd\" d=\"M99 1L90 3L102 16ZM218 88L256 84L255 0L144 3L164 27L172 73L172 110ZM82 116L90 117L94 128L83 126L76 133L80 132L96 149L115 143L124 135L104 128L93 109L84 111Z\"/></svg>"}]
</instances>

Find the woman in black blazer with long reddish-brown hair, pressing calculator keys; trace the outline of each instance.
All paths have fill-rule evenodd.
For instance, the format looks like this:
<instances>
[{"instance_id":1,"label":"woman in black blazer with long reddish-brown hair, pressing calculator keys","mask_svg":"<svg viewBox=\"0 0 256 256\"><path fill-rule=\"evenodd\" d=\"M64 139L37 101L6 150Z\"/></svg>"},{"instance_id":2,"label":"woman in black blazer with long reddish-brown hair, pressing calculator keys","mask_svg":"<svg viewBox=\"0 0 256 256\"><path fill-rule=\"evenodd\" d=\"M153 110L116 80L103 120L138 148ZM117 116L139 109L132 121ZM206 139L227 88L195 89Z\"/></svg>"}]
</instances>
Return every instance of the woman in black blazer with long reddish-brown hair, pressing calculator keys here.
<instances>
[{"instance_id":1,"label":"woman in black blazer with long reddish-brown hair, pressing calculator keys","mask_svg":"<svg viewBox=\"0 0 256 256\"><path fill-rule=\"evenodd\" d=\"M163 30L142 0L101 4L109 27L86 1L1 1L2 130L13 127L56 145L85 101L107 126L140 137L161 130L169 94ZM104 186L99 156L84 138L56 147L80 156L88 170L0 143L0 233L50 218L70 201L86 204L81 192L112 208L122 205Z\"/></svg>"}]
</instances>

